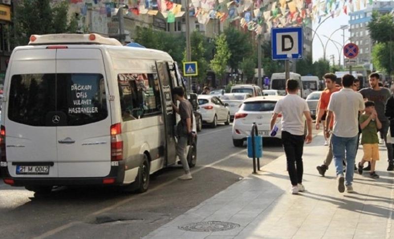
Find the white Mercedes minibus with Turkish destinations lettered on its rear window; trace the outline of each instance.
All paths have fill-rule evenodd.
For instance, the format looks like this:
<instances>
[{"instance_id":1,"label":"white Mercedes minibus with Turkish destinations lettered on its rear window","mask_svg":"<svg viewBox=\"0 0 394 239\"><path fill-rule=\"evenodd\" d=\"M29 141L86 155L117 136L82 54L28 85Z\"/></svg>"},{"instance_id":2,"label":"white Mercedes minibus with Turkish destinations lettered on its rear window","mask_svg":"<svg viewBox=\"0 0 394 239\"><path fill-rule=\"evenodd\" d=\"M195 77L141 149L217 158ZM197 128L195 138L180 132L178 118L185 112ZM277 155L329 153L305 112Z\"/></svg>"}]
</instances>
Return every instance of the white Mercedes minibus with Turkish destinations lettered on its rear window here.
<instances>
[{"instance_id":1,"label":"white Mercedes minibus with Turkish destinations lettered on its rear window","mask_svg":"<svg viewBox=\"0 0 394 239\"><path fill-rule=\"evenodd\" d=\"M4 182L35 192L55 185L146 191L150 174L177 161L171 89L182 85L165 52L97 34L32 35L12 52L5 76ZM191 166L195 151L189 147Z\"/></svg>"}]
</instances>

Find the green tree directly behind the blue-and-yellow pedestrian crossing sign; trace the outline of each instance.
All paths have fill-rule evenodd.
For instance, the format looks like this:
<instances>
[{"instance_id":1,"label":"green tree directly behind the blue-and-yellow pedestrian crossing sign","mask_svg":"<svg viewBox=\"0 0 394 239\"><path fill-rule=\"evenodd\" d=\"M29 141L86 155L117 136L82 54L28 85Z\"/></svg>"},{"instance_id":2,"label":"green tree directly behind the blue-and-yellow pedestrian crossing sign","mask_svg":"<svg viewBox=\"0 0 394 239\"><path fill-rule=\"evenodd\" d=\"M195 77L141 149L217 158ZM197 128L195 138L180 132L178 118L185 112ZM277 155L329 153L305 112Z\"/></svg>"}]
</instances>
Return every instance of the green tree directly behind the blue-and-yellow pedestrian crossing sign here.
<instances>
[{"instance_id":1,"label":"green tree directly behind the blue-and-yellow pedestrian crossing sign","mask_svg":"<svg viewBox=\"0 0 394 239\"><path fill-rule=\"evenodd\" d=\"M209 64L205 59L204 48L205 37L195 31L190 35L190 45L192 48L192 61L197 62L198 76L196 77L198 83L203 83L206 78L206 71L209 69ZM183 61L186 62L186 51L184 53Z\"/></svg>"}]
</instances>

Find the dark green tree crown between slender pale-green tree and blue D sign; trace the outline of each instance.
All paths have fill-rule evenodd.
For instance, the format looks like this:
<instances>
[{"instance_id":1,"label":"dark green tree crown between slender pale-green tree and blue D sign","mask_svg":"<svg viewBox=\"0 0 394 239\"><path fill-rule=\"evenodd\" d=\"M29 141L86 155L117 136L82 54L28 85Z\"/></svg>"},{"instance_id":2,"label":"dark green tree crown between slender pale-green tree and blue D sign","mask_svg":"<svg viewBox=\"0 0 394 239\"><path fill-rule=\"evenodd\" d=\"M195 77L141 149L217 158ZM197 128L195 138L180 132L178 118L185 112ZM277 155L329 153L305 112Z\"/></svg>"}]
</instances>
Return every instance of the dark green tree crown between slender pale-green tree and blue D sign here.
<instances>
[{"instance_id":1,"label":"dark green tree crown between slender pale-green tree and blue D sign","mask_svg":"<svg viewBox=\"0 0 394 239\"><path fill-rule=\"evenodd\" d=\"M233 70L238 69L242 59L252 57L252 40L249 34L232 27L226 29L225 35L231 53L229 65Z\"/></svg>"}]
</instances>

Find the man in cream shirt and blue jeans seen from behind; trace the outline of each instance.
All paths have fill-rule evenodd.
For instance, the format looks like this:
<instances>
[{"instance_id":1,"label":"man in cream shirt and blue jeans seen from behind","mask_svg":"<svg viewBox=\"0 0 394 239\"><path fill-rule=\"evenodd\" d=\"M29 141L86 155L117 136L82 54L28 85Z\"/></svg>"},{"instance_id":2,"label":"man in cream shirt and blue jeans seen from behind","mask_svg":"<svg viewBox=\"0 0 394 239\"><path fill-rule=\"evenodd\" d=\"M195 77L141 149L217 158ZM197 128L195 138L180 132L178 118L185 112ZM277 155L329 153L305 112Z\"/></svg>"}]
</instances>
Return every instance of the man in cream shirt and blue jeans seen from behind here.
<instances>
[{"instance_id":1,"label":"man in cream shirt and blue jeans seen from behind","mask_svg":"<svg viewBox=\"0 0 394 239\"><path fill-rule=\"evenodd\" d=\"M343 88L339 92L333 93L328 103L326 135L330 133L328 126L334 116L331 143L340 193L345 192L345 185L348 193L354 192L352 184L359 135L358 116L359 111L365 108L362 95L352 89L354 80L353 75L344 75L342 77ZM342 164L345 159L346 183Z\"/></svg>"}]
</instances>

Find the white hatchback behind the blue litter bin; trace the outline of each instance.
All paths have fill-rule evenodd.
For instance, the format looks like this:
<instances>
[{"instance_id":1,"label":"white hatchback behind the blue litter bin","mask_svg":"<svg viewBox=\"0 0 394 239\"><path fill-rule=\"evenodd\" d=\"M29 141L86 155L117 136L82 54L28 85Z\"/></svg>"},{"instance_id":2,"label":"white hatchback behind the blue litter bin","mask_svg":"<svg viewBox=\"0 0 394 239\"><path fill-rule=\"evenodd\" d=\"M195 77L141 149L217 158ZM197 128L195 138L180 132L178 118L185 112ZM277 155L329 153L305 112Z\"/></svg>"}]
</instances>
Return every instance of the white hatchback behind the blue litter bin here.
<instances>
[{"instance_id":1,"label":"white hatchback behind the blue litter bin","mask_svg":"<svg viewBox=\"0 0 394 239\"><path fill-rule=\"evenodd\" d=\"M270 121L276 102L283 96L254 97L245 100L238 112L235 113L232 124L232 142L234 146L241 147L246 137L251 135L253 123L257 124L259 135L270 137ZM276 125L278 133L276 138L281 138L281 115L279 114Z\"/></svg>"}]
</instances>

